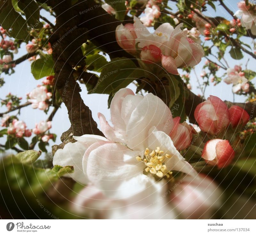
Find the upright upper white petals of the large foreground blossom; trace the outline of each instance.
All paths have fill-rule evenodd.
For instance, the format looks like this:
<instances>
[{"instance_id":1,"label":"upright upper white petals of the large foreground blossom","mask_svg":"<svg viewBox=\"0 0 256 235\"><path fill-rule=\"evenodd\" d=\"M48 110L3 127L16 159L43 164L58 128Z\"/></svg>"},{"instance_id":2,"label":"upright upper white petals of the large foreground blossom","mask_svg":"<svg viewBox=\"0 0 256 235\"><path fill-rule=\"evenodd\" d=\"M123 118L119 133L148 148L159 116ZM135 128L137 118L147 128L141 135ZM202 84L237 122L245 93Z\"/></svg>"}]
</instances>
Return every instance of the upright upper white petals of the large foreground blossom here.
<instances>
[{"instance_id":1,"label":"upright upper white petals of the large foreground blossom","mask_svg":"<svg viewBox=\"0 0 256 235\"><path fill-rule=\"evenodd\" d=\"M173 128L172 113L156 95L134 95L128 88L120 89L110 104L111 127L99 113L100 127L106 138L125 143L133 150L144 152L147 148L148 131L153 126L169 135ZM166 125L166 123L168 125ZM142 149L142 150L141 150Z\"/></svg>"}]
</instances>

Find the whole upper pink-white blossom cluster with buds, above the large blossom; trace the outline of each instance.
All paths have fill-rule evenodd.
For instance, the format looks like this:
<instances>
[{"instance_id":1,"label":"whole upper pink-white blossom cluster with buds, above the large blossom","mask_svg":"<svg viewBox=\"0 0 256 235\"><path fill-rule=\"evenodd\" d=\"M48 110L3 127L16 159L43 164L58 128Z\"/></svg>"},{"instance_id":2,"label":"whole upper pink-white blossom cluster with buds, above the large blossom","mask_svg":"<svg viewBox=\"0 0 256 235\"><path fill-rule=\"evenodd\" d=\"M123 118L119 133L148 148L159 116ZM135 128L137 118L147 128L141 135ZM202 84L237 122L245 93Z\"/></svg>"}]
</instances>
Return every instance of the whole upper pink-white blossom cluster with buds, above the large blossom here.
<instances>
[{"instance_id":1,"label":"whole upper pink-white blossom cluster with buds, above the large blossom","mask_svg":"<svg viewBox=\"0 0 256 235\"><path fill-rule=\"evenodd\" d=\"M178 74L178 68L195 66L204 56L203 48L188 38L188 31L181 30L182 25L174 29L164 23L151 34L134 16L134 24L116 27L116 40L121 48L140 58L147 68L149 64L150 67L161 64L167 72Z\"/></svg>"}]
</instances>

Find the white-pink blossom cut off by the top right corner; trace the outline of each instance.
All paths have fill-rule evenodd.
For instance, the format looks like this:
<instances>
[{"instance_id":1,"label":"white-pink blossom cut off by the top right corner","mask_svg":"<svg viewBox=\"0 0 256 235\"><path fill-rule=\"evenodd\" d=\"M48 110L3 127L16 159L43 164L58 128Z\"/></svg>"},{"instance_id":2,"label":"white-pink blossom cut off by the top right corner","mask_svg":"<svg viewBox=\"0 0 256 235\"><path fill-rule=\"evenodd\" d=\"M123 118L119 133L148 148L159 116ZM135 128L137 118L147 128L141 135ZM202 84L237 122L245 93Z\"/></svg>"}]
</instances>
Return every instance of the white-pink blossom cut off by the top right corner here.
<instances>
[{"instance_id":1,"label":"white-pink blossom cut off by the top right corner","mask_svg":"<svg viewBox=\"0 0 256 235\"><path fill-rule=\"evenodd\" d=\"M240 10L236 11L234 16L241 17L241 25L247 30L250 29L253 35L256 35L256 14L255 6L251 4L246 6L245 2L239 2L238 7Z\"/></svg>"}]
</instances>

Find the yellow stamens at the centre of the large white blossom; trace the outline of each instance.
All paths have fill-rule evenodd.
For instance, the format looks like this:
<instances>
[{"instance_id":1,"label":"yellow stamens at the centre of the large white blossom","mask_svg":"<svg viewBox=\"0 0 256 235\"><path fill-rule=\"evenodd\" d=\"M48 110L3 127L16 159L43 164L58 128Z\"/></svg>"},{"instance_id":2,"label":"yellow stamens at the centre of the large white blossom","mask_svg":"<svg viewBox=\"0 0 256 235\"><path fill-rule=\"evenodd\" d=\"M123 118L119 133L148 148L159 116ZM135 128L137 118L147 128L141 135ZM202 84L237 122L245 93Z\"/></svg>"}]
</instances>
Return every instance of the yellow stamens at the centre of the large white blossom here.
<instances>
[{"instance_id":1,"label":"yellow stamens at the centre of the large white blossom","mask_svg":"<svg viewBox=\"0 0 256 235\"><path fill-rule=\"evenodd\" d=\"M164 151L160 150L159 147L153 150L150 154L149 149L146 148L143 160L140 156L136 157L137 161L143 161L145 163L146 172L149 171L151 174L156 175L159 178L162 178L164 176L170 178L170 175L172 175L172 171L168 171L166 165L164 164L164 161L167 158L171 158L171 155L164 154Z\"/></svg>"}]
</instances>

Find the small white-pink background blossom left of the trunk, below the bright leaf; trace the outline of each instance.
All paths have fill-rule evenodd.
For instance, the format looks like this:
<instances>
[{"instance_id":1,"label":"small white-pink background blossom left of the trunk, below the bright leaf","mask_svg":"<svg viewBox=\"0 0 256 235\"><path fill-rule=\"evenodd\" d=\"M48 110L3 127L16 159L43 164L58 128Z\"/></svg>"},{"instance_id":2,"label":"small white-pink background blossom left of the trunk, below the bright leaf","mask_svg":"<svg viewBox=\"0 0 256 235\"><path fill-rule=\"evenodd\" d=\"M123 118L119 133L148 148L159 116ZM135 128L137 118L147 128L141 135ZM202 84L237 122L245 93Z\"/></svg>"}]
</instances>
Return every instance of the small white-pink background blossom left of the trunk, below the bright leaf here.
<instances>
[{"instance_id":1,"label":"small white-pink background blossom left of the trunk, below the bright leaf","mask_svg":"<svg viewBox=\"0 0 256 235\"><path fill-rule=\"evenodd\" d=\"M48 92L45 86L38 86L28 94L28 97L33 109L46 110L49 105L45 101L51 99L52 93Z\"/></svg>"}]
</instances>

